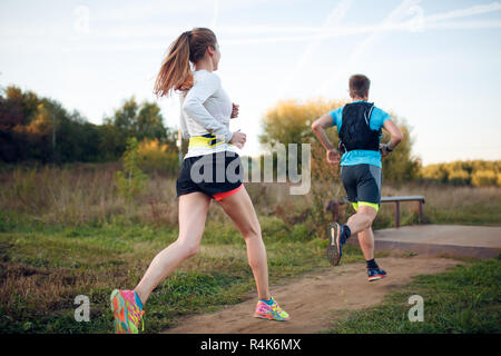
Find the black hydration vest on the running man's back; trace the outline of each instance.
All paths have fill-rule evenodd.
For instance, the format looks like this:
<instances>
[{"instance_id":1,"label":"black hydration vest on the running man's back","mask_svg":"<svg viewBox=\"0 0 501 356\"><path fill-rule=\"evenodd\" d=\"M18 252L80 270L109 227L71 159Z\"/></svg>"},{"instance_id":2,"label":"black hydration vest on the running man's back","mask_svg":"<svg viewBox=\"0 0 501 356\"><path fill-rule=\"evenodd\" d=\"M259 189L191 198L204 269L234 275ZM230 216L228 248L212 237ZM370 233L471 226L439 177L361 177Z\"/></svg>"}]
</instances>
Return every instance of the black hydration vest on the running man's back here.
<instances>
[{"instance_id":1,"label":"black hydration vest on the running man's back","mask_svg":"<svg viewBox=\"0 0 501 356\"><path fill-rule=\"evenodd\" d=\"M343 108L343 122L340 130L340 150L380 150L381 129L371 130L371 113L374 102L358 101Z\"/></svg>"}]
</instances>

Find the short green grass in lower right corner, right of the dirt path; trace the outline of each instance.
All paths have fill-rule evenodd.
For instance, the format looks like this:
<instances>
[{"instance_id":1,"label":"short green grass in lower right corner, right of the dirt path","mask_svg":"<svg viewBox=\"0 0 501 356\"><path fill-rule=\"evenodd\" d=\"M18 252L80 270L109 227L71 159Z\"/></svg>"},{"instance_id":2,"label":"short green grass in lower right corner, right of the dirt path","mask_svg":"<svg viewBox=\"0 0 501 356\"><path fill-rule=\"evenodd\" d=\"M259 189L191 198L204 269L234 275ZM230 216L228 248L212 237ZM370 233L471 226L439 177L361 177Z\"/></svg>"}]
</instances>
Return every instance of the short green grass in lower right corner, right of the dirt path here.
<instances>
[{"instance_id":1,"label":"short green grass in lower right corner, right of the dirt path","mask_svg":"<svg viewBox=\"0 0 501 356\"><path fill-rule=\"evenodd\" d=\"M421 275L376 307L341 313L332 334L501 333L501 260L478 260ZM424 299L424 320L409 322L409 297Z\"/></svg>"}]
</instances>

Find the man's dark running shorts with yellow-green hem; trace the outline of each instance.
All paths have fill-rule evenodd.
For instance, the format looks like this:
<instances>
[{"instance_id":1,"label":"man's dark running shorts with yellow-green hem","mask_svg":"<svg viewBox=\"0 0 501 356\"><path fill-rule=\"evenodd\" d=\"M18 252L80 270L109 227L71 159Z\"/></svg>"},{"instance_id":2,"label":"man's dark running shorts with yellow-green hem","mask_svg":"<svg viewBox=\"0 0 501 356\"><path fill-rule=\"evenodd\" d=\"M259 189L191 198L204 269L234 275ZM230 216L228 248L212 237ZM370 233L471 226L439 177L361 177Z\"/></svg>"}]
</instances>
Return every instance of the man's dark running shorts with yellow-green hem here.
<instances>
[{"instance_id":1,"label":"man's dark running shorts with yellow-green hem","mask_svg":"<svg viewBox=\"0 0 501 356\"><path fill-rule=\"evenodd\" d=\"M355 210L358 206L370 206L380 209L381 181L383 172L373 165L355 165L341 167L341 180L346 189L347 200Z\"/></svg>"}]
</instances>

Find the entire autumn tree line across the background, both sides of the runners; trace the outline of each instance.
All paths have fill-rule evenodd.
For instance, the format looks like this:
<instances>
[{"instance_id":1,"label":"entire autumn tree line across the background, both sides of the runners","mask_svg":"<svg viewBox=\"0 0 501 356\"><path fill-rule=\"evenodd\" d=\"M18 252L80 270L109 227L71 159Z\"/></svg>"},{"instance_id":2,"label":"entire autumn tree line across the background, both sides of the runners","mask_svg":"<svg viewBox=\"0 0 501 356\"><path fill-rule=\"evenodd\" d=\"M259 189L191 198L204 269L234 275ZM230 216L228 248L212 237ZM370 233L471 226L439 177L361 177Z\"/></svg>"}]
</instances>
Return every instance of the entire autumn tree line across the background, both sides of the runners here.
<instances>
[{"instance_id":1,"label":"entire autumn tree line across the background, both sides of the runners","mask_svg":"<svg viewBox=\"0 0 501 356\"><path fill-rule=\"evenodd\" d=\"M77 110L69 112L58 101L39 97L33 91L22 91L16 86L0 89L0 162L118 161L126 152L127 140L135 138L141 169L147 172L177 172L177 132L164 125L156 102L138 103L131 97L110 117L105 117L102 125L95 125ZM278 142L285 147L287 144L312 145L313 177L332 179L335 172L325 164L324 151L311 125L320 116L345 103L343 100L323 98L278 101L263 117L259 142L272 148ZM501 161L455 161L422 167L420 158L411 154L411 127L396 113L390 110L389 113L404 134L404 140L383 159L386 181L501 186ZM334 145L338 144L335 129L327 130L327 136ZM389 139L389 134L383 130L382 141ZM184 140L183 152L186 150L187 142ZM272 151L267 154L275 155ZM297 155L301 158L301 145ZM301 171L301 159L298 161Z\"/></svg>"}]
</instances>

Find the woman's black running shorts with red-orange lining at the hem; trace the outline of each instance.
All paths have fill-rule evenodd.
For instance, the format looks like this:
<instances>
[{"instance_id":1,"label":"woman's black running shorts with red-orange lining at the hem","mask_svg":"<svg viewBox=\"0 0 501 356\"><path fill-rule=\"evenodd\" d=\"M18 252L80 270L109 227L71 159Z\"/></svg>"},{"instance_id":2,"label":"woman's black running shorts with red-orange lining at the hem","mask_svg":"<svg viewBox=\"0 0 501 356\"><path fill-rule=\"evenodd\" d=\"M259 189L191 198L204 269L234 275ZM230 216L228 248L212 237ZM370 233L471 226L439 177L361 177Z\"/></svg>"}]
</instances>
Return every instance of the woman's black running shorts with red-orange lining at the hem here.
<instances>
[{"instance_id":1,"label":"woman's black running shorts with red-orange lining at the hem","mask_svg":"<svg viewBox=\"0 0 501 356\"><path fill-rule=\"evenodd\" d=\"M243 187L240 157L234 151L187 157L176 181L177 197L202 191L220 200Z\"/></svg>"}]
</instances>

